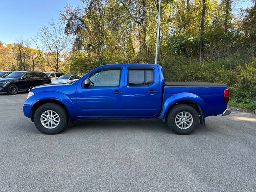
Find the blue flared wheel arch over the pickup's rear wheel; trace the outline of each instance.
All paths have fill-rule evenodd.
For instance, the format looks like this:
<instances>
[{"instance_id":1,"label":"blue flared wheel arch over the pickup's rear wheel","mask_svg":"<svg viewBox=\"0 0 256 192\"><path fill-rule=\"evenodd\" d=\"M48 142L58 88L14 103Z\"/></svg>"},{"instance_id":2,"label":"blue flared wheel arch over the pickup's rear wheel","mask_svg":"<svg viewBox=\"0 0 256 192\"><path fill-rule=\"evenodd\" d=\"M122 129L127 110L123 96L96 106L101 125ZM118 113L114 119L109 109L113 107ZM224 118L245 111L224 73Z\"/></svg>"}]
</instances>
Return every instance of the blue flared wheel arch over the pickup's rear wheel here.
<instances>
[{"instance_id":1,"label":"blue flared wheel arch over the pickup's rear wheel","mask_svg":"<svg viewBox=\"0 0 256 192\"><path fill-rule=\"evenodd\" d=\"M180 102L180 101L195 102L196 104L198 104L200 106L202 111L204 111L204 108L205 108L205 105L206 105L204 100L196 94L188 93L188 92L174 94L173 96L169 97L166 101L164 101L162 112L161 112L159 118L164 119L164 117L166 116L166 113L168 112L169 108L173 104L175 104L177 102Z\"/></svg>"}]
</instances>

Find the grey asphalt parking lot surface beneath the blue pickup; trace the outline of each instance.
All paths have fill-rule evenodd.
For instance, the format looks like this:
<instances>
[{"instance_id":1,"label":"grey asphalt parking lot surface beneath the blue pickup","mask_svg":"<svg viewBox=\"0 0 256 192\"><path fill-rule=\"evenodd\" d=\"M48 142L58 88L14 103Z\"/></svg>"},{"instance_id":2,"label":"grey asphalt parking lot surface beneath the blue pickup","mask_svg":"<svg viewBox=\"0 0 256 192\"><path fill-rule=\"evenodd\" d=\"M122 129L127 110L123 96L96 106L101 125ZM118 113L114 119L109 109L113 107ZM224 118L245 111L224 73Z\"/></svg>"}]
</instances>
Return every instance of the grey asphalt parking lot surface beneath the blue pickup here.
<instances>
[{"instance_id":1,"label":"grey asphalt parking lot surface beneath the blue pickup","mask_svg":"<svg viewBox=\"0 0 256 192\"><path fill-rule=\"evenodd\" d=\"M0 94L0 191L255 191L256 115L206 118L188 136L161 120L88 120L58 135Z\"/></svg>"}]
</instances>

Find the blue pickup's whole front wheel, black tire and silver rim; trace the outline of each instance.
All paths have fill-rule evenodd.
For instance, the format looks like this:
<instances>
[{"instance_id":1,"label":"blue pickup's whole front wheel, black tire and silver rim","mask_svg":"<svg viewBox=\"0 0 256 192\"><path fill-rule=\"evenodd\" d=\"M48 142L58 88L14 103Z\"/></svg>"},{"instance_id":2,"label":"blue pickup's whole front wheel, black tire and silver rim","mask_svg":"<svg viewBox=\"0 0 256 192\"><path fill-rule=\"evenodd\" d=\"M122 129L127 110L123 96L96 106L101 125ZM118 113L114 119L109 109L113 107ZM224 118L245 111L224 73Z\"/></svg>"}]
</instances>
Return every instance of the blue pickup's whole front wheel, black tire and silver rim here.
<instances>
[{"instance_id":1,"label":"blue pickup's whole front wheel, black tire and silver rim","mask_svg":"<svg viewBox=\"0 0 256 192\"><path fill-rule=\"evenodd\" d=\"M59 104L46 103L36 110L34 124L44 134L58 134L68 125L68 114Z\"/></svg>"}]
</instances>

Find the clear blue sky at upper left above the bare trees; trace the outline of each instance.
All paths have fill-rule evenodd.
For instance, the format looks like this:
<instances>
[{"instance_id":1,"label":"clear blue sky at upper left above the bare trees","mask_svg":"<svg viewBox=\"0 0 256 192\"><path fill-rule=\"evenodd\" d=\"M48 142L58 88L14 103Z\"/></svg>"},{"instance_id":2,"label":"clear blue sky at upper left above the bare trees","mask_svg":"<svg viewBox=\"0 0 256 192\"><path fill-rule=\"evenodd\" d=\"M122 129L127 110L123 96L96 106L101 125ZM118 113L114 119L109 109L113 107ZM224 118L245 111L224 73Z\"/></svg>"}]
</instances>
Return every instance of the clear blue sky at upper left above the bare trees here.
<instances>
[{"instance_id":1,"label":"clear blue sky at upper left above the bare trees","mask_svg":"<svg viewBox=\"0 0 256 192\"><path fill-rule=\"evenodd\" d=\"M34 36L43 25L58 20L66 4L81 0L0 0L0 41L14 43L19 36Z\"/></svg>"}]
</instances>

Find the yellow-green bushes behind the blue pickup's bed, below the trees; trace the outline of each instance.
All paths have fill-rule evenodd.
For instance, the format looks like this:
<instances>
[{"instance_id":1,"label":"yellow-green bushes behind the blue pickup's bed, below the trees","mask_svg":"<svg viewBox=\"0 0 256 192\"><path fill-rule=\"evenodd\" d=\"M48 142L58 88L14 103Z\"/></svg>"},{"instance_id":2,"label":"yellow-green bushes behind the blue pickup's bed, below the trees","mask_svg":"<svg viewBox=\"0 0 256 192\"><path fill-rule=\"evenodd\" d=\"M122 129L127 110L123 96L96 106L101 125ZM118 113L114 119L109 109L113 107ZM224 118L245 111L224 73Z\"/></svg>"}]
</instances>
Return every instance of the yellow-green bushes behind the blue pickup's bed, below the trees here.
<instances>
[{"instance_id":1,"label":"yellow-green bushes behind the blue pickup's bed, below the trees","mask_svg":"<svg viewBox=\"0 0 256 192\"><path fill-rule=\"evenodd\" d=\"M166 81L202 81L226 83L234 106L256 109L256 58L231 55L228 58L184 56L162 60Z\"/></svg>"}]
</instances>

